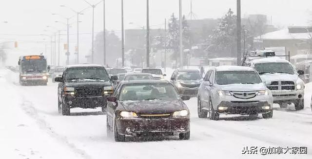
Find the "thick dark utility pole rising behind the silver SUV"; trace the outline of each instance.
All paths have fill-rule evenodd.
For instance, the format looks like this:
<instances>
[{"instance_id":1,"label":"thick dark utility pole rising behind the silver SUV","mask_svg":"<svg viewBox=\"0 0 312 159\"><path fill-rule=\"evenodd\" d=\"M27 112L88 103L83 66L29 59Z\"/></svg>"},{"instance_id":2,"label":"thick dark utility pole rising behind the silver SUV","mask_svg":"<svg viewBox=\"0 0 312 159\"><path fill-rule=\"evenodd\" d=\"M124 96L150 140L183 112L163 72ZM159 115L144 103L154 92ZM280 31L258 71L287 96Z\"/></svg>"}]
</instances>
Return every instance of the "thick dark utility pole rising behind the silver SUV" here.
<instances>
[{"instance_id":1,"label":"thick dark utility pole rising behind the silver SUV","mask_svg":"<svg viewBox=\"0 0 312 159\"><path fill-rule=\"evenodd\" d=\"M236 26L237 26L237 65L240 65L241 62L241 13L240 13L240 0L237 0L237 19L236 19Z\"/></svg>"}]
</instances>

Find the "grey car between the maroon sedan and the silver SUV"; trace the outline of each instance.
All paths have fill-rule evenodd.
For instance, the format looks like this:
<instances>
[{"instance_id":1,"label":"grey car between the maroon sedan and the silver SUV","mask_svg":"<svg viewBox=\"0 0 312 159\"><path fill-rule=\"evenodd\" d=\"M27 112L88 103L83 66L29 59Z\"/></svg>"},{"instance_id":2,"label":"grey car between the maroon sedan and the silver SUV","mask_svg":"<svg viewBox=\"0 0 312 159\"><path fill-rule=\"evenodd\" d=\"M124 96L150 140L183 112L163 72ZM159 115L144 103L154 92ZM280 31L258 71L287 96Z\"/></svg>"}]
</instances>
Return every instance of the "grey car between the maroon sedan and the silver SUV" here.
<instances>
[{"instance_id":1,"label":"grey car between the maroon sedan and the silver SUV","mask_svg":"<svg viewBox=\"0 0 312 159\"><path fill-rule=\"evenodd\" d=\"M181 95L193 97L197 96L198 87L203 81L198 70L175 70L170 80Z\"/></svg>"}]
</instances>

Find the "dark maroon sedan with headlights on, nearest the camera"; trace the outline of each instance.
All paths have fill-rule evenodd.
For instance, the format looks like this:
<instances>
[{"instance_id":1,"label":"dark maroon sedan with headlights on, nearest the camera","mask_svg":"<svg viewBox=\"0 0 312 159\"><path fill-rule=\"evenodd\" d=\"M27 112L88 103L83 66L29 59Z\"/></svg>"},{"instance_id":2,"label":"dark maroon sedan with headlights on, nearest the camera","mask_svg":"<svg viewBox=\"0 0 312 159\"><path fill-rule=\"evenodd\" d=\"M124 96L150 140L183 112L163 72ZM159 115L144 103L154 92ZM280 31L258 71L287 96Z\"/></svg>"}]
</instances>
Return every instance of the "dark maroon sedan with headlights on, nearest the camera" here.
<instances>
[{"instance_id":1,"label":"dark maroon sedan with headlights on, nearest the camera","mask_svg":"<svg viewBox=\"0 0 312 159\"><path fill-rule=\"evenodd\" d=\"M188 99L166 80L122 81L107 98L107 133L115 141L149 133L190 139L190 112L182 101Z\"/></svg>"}]
</instances>

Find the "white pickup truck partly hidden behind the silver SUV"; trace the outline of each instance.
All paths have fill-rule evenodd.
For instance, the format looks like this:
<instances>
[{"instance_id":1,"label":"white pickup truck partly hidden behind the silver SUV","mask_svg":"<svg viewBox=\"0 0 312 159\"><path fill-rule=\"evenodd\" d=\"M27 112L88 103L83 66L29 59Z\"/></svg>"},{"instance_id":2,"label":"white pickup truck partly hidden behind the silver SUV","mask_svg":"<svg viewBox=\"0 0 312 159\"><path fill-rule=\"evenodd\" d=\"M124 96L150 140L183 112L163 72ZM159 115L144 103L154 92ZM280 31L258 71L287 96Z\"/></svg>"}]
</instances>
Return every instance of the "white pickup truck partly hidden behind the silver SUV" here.
<instances>
[{"instance_id":1,"label":"white pickup truck partly hidden behind the silver SUV","mask_svg":"<svg viewBox=\"0 0 312 159\"><path fill-rule=\"evenodd\" d=\"M250 67L265 81L273 94L274 103L281 108L286 108L289 103L293 103L296 110L304 108L304 82L299 78L304 71L296 72L288 60L278 57L251 60Z\"/></svg>"}]
</instances>

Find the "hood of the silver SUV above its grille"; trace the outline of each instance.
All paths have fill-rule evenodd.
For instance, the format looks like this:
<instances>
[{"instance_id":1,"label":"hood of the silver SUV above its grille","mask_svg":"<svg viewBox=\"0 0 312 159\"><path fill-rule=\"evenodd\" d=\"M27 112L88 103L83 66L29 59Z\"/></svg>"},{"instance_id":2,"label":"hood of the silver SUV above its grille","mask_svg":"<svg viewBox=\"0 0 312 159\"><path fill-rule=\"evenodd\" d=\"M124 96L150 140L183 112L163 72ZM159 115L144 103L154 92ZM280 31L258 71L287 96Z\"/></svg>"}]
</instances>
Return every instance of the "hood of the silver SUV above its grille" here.
<instances>
[{"instance_id":1,"label":"hood of the silver SUV above its grille","mask_svg":"<svg viewBox=\"0 0 312 159\"><path fill-rule=\"evenodd\" d=\"M260 91L266 90L267 87L263 83L258 84L227 84L218 85L223 91Z\"/></svg>"}]
</instances>

